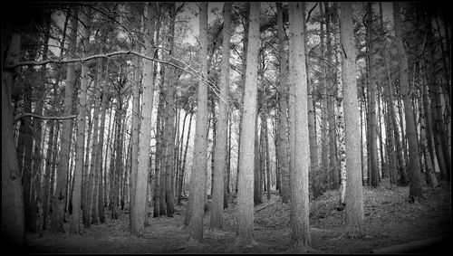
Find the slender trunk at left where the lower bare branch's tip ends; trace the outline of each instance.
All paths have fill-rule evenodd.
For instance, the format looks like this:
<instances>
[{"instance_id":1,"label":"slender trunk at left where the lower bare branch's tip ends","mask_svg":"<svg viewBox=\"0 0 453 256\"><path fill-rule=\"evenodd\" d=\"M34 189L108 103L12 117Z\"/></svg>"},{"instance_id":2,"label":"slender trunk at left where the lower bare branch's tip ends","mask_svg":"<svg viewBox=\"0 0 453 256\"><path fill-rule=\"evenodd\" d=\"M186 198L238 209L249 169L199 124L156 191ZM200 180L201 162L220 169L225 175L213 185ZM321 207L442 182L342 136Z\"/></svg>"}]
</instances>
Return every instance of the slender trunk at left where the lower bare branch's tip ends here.
<instances>
[{"instance_id":1,"label":"slender trunk at left where the lower bare branch's tip ends","mask_svg":"<svg viewBox=\"0 0 453 256\"><path fill-rule=\"evenodd\" d=\"M82 44L85 46L83 57L88 56L92 8L86 7L82 12ZM83 171L83 142L85 140L85 116L87 112L87 87L88 87L88 63L82 63L81 74L81 91L79 94L79 115L77 119L77 138L76 138L76 153L75 153L75 169L74 169L74 191L72 194L72 219L69 232L79 233L80 213L81 213L81 195L82 195L82 171Z\"/></svg>"}]
</instances>

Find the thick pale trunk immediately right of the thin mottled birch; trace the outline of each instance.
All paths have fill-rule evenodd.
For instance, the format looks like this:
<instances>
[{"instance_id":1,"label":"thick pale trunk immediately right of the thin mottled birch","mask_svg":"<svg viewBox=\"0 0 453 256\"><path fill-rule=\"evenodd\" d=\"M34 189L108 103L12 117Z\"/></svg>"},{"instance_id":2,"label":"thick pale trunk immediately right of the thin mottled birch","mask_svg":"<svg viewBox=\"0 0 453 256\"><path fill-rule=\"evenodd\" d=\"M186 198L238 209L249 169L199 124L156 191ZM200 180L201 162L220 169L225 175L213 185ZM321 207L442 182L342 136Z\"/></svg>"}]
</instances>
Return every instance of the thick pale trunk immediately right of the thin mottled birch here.
<instances>
[{"instance_id":1,"label":"thick pale trunk immediately right of the thin mottled birch","mask_svg":"<svg viewBox=\"0 0 453 256\"><path fill-rule=\"evenodd\" d=\"M352 4L341 3L342 85L346 141L346 234L355 237L364 232L359 105L355 79L356 53L353 41Z\"/></svg>"}]
</instances>

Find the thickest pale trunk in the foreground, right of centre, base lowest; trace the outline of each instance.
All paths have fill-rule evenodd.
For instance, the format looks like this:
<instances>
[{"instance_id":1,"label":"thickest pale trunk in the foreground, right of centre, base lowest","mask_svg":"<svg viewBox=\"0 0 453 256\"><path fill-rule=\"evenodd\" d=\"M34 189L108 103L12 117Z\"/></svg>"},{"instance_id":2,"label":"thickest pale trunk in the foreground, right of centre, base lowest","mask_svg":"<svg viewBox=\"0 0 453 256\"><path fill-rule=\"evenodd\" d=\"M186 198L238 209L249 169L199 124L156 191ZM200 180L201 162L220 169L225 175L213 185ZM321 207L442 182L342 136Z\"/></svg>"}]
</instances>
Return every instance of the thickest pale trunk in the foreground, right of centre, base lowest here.
<instances>
[{"instance_id":1,"label":"thickest pale trunk in the foreground, right of centre, base lowest","mask_svg":"<svg viewBox=\"0 0 453 256\"><path fill-rule=\"evenodd\" d=\"M304 3L289 3L289 142L291 172L290 250L310 247L308 202L308 105L305 69Z\"/></svg>"}]
</instances>

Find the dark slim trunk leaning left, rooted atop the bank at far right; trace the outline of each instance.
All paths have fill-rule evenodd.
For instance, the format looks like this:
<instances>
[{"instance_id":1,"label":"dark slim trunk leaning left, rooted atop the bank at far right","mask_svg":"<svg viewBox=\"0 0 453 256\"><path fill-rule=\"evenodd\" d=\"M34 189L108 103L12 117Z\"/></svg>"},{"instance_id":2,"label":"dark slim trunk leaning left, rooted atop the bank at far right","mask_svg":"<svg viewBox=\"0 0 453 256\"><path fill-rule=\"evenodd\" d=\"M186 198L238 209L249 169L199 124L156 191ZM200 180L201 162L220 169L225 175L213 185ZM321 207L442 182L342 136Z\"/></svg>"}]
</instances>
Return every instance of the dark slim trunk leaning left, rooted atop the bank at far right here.
<instances>
[{"instance_id":1,"label":"dark slim trunk leaning left, rooted atop the bank at far right","mask_svg":"<svg viewBox=\"0 0 453 256\"><path fill-rule=\"evenodd\" d=\"M418 201L423 197L421 187L421 173L419 166L419 145L414 121L414 112L410 97L410 84L408 74L408 59L406 50L402 43L402 24L400 18L400 4L393 3L393 19L395 28L395 43L398 49L398 58L400 61L400 91L404 103L404 117L406 120L406 136L409 142L409 169L410 177L410 200Z\"/></svg>"}]
</instances>

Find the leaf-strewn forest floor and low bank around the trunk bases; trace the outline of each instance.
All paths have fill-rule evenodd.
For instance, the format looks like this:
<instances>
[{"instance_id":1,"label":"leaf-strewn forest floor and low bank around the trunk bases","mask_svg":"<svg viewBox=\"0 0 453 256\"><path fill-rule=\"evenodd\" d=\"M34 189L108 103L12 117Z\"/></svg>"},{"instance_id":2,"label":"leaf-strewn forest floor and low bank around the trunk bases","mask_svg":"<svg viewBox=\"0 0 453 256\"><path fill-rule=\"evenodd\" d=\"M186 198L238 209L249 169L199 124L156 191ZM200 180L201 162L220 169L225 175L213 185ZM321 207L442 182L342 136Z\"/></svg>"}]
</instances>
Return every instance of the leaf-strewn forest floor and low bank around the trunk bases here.
<instances>
[{"instance_id":1,"label":"leaf-strewn forest floor and low bank around the trunk bases","mask_svg":"<svg viewBox=\"0 0 453 256\"><path fill-rule=\"evenodd\" d=\"M370 253L371 250L404 242L418 241L451 233L450 184L440 182L436 189L424 189L425 200L410 204L409 186L363 188L366 235L342 236L345 211L337 211L339 191L328 191L310 202L310 234L315 253ZM207 232L205 214L201 246L186 247L188 231L184 222L186 202L175 204L173 218L152 218L144 235L137 238L128 231L129 213L120 211L118 220L106 213L106 223L93 224L82 235L44 231L27 233L27 251L37 253L284 253L290 241L289 204L278 194L255 206L254 237L251 248L232 246L235 238L236 202L224 211L226 232ZM347 206L346 206L347 207ZM69 219L69 218L68 218ZM69 225L66 223L65 225ZM82 224L81 224L82 226ZM66 226L65 226L66 227ZM67 226L66 228L68 228Z\"/></svg>"}]
</instances>

